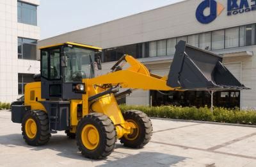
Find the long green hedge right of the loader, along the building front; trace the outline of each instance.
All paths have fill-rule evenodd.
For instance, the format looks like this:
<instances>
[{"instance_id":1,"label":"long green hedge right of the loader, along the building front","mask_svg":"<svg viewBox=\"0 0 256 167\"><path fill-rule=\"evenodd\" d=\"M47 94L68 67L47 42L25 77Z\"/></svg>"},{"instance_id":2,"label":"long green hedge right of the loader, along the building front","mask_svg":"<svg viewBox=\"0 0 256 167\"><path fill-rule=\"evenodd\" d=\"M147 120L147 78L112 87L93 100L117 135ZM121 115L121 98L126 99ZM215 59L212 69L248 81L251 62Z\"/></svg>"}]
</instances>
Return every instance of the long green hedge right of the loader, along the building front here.
<instances>
[{"instance_id":1,"label":"long green hedge right of the loader, along the building front","mask_svg":"<svg viewBox=\"0 0 256 167\"><path fill-rule=\"evenodd\" d=\"M213 111L205 107L180 107L180 106L127 106L120 105L122 112L129 109L138 109L150 117L173 118L182 120L204 120L210 122L243 123L256 125L255 110L226 109L214 107Z\"/></svg>"}]
</instances>

